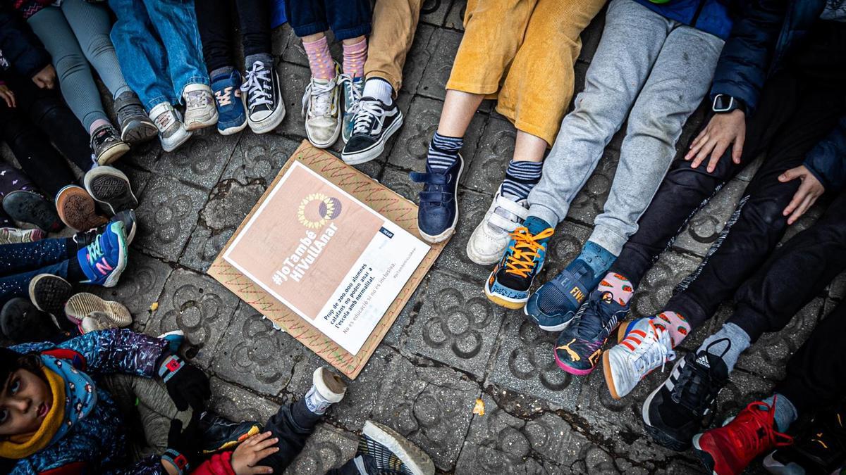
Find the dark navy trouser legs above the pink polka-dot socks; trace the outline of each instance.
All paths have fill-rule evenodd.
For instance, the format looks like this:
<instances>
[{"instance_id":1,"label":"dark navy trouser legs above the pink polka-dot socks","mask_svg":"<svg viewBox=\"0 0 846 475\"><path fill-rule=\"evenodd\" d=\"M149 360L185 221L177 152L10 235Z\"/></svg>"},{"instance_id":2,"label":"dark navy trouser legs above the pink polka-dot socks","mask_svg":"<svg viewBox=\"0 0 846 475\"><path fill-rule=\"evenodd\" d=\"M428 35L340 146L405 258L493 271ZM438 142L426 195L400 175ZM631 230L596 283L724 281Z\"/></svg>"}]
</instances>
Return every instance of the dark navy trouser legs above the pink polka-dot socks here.
<instances>
[{"instance_id":1,"label":"dark navy trouser legs above the pink polka-dot socks","mask_svg":"<svg viewBox=\"0 0 846 475\"><path fill-rule=\"evenodd\" d=\"M300 38L330 27L335 41L371 32L370 0L285 0L285 14L294 34Z\"/></svg>"}]
</instances>

